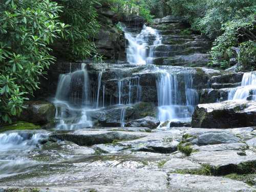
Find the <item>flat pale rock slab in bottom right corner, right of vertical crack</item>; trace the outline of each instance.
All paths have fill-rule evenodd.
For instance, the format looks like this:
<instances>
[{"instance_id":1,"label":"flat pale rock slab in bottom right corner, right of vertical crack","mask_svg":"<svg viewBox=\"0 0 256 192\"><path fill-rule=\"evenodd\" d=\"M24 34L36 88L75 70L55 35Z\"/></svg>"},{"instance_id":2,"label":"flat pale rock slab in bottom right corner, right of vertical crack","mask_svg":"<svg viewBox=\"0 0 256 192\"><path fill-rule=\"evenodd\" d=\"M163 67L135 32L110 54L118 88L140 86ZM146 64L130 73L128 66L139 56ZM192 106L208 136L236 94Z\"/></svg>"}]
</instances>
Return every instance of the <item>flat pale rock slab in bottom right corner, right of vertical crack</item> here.
<instances>
[{"instance_id":1,"label":"flat pale rock slab in bottom right corner, right of vertical crack","mask_svg":"<svg viewBox=\"0 0 256 192\"><path fill-rule=\"evenodd\" d=\"M255 188L248 186L247 184L234 181L222 177L210 177L199 175L181 175L170 174L169 175L169 191L172 192L234 192L234 191L254 191Z\"/></svg>"}]
</instances>

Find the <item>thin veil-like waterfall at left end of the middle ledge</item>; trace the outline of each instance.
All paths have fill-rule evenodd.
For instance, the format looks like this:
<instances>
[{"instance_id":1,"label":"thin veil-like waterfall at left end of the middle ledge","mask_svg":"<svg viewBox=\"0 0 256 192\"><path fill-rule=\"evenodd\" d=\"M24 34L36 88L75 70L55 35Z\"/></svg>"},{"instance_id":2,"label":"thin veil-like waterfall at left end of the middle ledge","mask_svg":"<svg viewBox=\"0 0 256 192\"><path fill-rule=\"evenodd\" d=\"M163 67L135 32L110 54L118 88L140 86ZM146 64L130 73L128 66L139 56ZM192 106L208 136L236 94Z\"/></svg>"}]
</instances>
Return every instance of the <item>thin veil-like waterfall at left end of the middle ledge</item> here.
<instances>
[{"instance_id":1,"label":"thin veil-like waterfall at left end of the middle ledge","mask_svg":"<svg viewBox=\"0 0 256 192\"><path fill-rule=\"evenodd\" d=\"M85 63L81 63L80 70L59 76L54 99L56 129L75 130L92 126L88 117L92 104L89 82Z\"/></svg>"}]
</instances>

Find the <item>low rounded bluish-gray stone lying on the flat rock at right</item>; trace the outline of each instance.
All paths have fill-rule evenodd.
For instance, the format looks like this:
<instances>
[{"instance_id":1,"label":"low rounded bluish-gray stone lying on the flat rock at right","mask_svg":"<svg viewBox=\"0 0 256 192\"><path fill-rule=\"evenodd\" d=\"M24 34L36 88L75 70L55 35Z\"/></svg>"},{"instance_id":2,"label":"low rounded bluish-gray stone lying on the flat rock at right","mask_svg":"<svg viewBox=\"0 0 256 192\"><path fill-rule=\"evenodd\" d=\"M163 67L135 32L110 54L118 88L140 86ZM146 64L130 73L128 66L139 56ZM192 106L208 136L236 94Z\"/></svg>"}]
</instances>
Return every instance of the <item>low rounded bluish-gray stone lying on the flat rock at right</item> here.
<instances>
[{"instance_id":1,"label":"low rounded bluish-gray stone lying on the flat rock at right","mask_svg":"<svg viewBox=\"0 0 256 192\"><path fill-rule=\"evenodd\" d=\"M221 143L238 143L241 139L228 133L223 132L212 132L204 133L198 137L199 145L212 145Z\"/></svg>"}]
</instances>

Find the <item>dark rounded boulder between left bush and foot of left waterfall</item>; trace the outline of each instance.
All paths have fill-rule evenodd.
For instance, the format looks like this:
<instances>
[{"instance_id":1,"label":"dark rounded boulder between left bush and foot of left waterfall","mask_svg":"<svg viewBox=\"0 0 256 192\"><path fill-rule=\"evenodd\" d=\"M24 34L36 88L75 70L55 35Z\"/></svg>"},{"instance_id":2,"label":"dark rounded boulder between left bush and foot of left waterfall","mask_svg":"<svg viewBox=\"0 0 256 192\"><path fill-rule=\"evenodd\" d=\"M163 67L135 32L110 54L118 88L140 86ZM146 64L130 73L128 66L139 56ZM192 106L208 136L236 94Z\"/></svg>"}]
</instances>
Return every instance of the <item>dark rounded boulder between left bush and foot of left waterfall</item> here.
<instances>
[{"instance_id":1,"label":"dark rounded boulder between left bush and foot of left waterfall","mask_svg":"<svg viewBox=\"0 0 256 192\"><path fill-rule=\"evenodd\" d=\"M26 109L20 115L20 120L35 123L46 124L52 122L55 118L55 106L47 101L28 101L25 103Z\"/></svg>"}]
</instances>

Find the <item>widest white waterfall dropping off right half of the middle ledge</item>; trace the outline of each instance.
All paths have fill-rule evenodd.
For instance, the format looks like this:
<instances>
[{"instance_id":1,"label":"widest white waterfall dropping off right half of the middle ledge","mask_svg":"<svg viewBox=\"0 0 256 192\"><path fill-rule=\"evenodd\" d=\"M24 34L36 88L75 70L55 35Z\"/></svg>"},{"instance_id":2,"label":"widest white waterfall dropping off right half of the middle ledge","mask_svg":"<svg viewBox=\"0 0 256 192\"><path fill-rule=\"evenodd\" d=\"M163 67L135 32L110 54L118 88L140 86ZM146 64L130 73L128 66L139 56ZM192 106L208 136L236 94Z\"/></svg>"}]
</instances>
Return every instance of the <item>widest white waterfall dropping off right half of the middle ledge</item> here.
<instances>
[{"instance_id":1,"label":"widest white waterfall dropping off right half of the middle ledge","mask_svg":"<svg viewBox=\"0 0 256 192\"><path fill-rule=\"evenodd\" d=\"M191 117L198 103L198 93L193 89L193 78L190 74L180 75L161 73L157 80L158 118L166 120L185 120ZM182 92L184 90L184 92ZM184 98L182 96L185 96Z\"/></svg>"}]
</instances>

